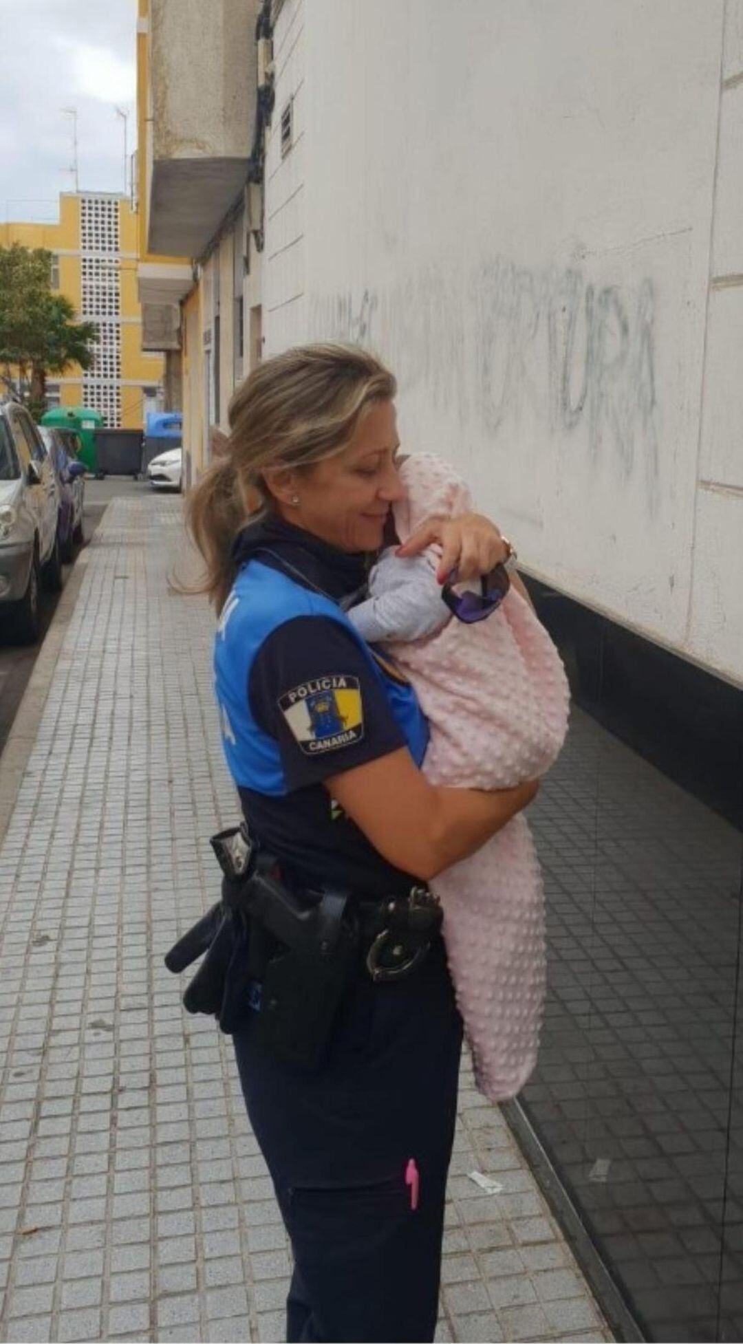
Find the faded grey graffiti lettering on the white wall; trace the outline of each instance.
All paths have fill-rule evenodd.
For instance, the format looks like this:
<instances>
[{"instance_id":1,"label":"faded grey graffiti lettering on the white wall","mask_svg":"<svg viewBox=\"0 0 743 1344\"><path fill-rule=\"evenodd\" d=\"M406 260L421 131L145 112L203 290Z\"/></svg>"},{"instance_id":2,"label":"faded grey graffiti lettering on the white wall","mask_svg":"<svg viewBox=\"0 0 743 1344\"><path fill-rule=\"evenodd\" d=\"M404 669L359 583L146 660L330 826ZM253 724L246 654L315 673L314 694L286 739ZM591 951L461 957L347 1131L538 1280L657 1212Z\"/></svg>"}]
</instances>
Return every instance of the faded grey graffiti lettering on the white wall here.
<instances>
[{"instance_id":1,"label":"faded grey graffiti lettering on the white wall","mask_svg":"<svg viewBox=\"0 0 743 1344\"><path fill-rule=\"evenodd\" d=\"M429 269L390 290L310 302L314 337L379 349L400 390L474 415L497 438L528 409L551 435L582 435L594 464L642 474L657 501L658 407L653 284L597 285L576 267L494 258L465 285Z\"/></svg>"}]
</instances>

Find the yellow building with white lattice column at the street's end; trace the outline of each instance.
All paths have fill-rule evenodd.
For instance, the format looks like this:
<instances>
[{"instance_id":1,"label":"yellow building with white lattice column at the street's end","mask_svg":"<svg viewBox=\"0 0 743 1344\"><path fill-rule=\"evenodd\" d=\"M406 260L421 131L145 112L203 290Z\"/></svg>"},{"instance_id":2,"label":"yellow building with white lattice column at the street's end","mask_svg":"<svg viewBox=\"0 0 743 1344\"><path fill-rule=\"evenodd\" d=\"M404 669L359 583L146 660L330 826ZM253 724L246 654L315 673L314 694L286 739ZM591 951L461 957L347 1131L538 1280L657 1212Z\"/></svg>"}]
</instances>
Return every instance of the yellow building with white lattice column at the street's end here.
<instances>
[{"instance_id":1,"label":"yellow building with white lattice column at the street's end","mask_svg":"<svg viewBox=\"0 0 743 1344\"><path fill-rule=\"evenodd\" d=\"M0 224L0 245L15 242L52 254L52 288L99 332L93 367L52 375L48 405L89 406L110 429L144 426L146 413L163 406L164 359L142 348L140 219L129 196L63 192L56 223Z\"/></svg>"}]
</instances>

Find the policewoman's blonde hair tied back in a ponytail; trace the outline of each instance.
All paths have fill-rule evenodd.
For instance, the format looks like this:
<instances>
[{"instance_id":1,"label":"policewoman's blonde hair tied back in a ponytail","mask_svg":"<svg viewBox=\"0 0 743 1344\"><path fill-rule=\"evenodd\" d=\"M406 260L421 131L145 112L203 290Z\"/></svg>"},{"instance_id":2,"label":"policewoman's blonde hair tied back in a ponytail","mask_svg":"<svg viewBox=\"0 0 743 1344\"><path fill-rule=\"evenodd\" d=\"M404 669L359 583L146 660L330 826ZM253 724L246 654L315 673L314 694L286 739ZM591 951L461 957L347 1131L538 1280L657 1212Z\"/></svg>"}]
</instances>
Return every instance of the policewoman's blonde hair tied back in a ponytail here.
<instances>
[{"instance_id":1,"label":"policewoman's blonde hair tied back in a ponytail","mask_svg":"<svg viewBox=\"0 0 743 1344\"><path fill-rule=\"evenodd\" d=\"M187 526L207 570L199 591L218 612L235 578L238 532L274 503L263 473L302 469L343 452L364 413L396 390L374 355L331 343L274 355L241 383L227 411L230 433L215 437L215 461L187 499Z\"/></svg>"}]
</instances>

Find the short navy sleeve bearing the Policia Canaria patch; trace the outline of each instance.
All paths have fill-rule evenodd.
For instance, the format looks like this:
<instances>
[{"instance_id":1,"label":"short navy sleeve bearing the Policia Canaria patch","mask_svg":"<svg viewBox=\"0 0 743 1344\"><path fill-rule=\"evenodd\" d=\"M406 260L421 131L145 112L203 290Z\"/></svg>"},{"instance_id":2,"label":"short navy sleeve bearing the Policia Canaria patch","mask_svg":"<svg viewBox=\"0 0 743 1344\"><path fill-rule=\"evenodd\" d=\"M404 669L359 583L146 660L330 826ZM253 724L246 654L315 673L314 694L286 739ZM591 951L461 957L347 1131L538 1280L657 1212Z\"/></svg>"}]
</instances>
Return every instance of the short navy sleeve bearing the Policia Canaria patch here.
<instances>
[{"instance_id":1,"label":"short navy sleeve bearing the Policia Canaria patch","mask_svg":"<svg viewBox=\"0 0 743 1344\"><path fill-rule=\"evenodd\" d=\"M278 745L289 790L406 745L368 657L332 617L279 625L253 661L247 695L255 722Z\"/></svg>"}]
</instances>

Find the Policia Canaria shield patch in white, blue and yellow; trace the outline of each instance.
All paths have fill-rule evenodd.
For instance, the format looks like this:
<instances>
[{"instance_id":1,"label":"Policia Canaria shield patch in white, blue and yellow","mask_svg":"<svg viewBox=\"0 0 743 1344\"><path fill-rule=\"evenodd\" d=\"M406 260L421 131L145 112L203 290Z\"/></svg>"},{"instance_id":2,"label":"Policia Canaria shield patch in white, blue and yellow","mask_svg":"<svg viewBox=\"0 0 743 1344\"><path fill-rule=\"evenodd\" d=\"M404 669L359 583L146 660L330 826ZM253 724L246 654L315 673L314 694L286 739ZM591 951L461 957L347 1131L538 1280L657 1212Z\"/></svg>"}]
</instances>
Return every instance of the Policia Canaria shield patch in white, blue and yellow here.
<instances>
[{"instance_id":1,"label":"Policia Canaria shield patch in white, blue and yellow","mask_svg":"<svg viewBox=\"0 0 743 1344\"><path fill-rule=\"evenodd\" d=\"M281 695L278 707L305 755L337 751L364 737L359 677L313 677Z\"/></svg>"}]
</instances>

